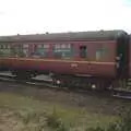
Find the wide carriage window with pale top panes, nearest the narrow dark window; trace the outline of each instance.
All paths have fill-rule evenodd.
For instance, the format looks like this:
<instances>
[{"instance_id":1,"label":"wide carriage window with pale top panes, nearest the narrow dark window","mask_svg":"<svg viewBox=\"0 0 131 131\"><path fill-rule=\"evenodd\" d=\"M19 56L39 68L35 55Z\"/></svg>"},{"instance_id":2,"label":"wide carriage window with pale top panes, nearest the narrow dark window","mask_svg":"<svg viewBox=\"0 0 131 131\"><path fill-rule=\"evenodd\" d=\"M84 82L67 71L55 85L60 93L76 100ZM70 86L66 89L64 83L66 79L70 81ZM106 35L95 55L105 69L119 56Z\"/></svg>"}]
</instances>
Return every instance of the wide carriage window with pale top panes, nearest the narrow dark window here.
<instances>
[{"instance_id":1,"label":"wide carriage window with pale top panes, nearest the narrow dark window","mask_svg":"<svg viewBox=\"0 0 131 131\"><path fill-rule=\"evenodd\" d=\"M56 44L53 47L53 56L58 59L71 59L73 48L71 44Z\"/></svg>"}]
</instances>

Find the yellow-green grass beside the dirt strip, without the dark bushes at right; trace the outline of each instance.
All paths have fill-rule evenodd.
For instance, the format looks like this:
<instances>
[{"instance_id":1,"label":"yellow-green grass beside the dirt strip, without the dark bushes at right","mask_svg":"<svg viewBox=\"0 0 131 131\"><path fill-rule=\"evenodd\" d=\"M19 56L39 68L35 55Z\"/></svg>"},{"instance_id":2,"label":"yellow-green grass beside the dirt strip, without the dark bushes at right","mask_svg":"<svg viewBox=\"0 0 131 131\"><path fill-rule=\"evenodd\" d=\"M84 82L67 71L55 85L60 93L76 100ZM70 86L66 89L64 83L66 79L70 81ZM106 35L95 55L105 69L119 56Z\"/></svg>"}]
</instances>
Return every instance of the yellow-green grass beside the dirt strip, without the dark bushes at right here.
<instances>
[{"instance_id":1,"label":"yellow-green grass beside the dirt strip, without the dark bushes at right","mask_svg":"<svg viewBox=\"0 0 131 131\"><path fill-rule=\"evenodd\" d=\"M23 131L84 131L90 127L106 127L117 119L116 116L95 114L85 108L41 102L13 93L0 93L0 110L1 114L11 111L10 118L19 121L20 130Z\"/></svg>"}]
</instances>

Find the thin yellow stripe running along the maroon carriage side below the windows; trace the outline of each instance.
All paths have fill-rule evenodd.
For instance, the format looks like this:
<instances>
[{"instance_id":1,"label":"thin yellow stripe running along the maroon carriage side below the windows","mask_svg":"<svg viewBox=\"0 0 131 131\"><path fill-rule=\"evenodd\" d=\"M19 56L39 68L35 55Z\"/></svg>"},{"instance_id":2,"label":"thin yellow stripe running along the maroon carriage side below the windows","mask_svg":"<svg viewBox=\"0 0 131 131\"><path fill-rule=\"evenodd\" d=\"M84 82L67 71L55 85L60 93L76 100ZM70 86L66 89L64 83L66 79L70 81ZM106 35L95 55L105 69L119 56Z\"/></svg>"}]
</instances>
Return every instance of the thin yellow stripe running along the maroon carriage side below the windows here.
<instances>
[{"instance_id":1,"label":"thin yellow stripe running along the maroon carriage side below the windows","mask_svg":"<svg viewBox=\"0 0 131 131\"><path fill-rule=\"evenodd\" d=\"M69 62L69 63L88 63L88 64L112 64L115 66L116 62L105 62L105 61L76 61L76 60L57 60L57 59L35 59L35 58L2 58L2 59L8 59L8 60L34 60L34 61L47 61L47 62ZM105 67L106 68L106 67Z\"/></svg>"}]
</instances>

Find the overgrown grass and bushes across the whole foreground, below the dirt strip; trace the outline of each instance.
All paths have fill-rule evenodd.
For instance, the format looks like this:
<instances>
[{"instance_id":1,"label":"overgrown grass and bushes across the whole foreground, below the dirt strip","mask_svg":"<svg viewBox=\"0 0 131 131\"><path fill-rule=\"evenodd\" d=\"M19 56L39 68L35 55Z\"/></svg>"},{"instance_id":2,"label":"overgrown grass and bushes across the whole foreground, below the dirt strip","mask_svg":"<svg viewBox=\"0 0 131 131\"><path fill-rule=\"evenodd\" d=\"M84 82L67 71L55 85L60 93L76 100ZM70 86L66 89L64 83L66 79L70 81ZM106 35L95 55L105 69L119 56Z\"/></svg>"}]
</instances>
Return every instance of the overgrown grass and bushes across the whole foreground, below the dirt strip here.
<instances>
[{"instance_id":1,"label":"overgrown grass and bushes across the whole foreground, below the dirt strip","mask_svg":"<svg viewBox=\"0 0 131 131\"><path fill-rule=\"evenodd\" d=\"M131 131L130 109L120 112L119 116L111 116L0 93L0 121L2 116L9 120L9 123L1 122L2 126L13 124L11 121L14 121L16 131Z\"/></svg>"}]
</instances>

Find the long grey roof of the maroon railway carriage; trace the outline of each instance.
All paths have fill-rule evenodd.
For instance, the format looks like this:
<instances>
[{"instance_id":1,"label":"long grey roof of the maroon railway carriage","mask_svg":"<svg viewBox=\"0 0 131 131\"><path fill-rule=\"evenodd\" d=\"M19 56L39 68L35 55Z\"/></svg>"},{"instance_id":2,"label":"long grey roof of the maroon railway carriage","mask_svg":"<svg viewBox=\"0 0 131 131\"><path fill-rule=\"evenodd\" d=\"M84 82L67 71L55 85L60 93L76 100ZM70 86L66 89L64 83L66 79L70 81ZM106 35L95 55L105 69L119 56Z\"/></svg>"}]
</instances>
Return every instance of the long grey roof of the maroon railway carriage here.
<instances>
[{"instance_id":1,"label":"long grey roof of the maroon railway carriage","mask_svg":"<svg viewBox=\"0 0 131 131\"><path fill-rule=\"evenodd\" d=\"M96 32L70 32L46 33L34 35L0 36L0 41L59 41L59 40L107 40L127 35L124 31L96 31Z\"/></svg>"}]
</instances>

